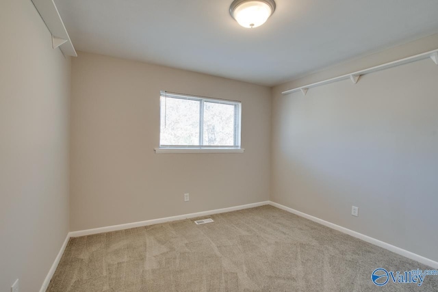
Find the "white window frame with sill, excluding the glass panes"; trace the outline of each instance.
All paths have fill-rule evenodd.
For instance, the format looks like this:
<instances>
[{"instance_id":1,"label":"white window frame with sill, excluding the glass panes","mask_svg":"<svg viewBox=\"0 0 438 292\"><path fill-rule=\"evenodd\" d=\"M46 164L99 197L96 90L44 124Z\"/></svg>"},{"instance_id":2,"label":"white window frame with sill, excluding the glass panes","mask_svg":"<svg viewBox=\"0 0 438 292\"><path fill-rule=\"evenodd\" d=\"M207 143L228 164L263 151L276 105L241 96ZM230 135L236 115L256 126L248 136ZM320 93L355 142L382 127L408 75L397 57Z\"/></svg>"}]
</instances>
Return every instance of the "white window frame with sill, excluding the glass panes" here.
<instances>
[{"instance_id":1,"label":"white window frame with sill, excluding the glass panes","mask_svg":"<svg viewBox=\"0 0 438 292\"><path fill-rule=\"evenodd\" d=\"M183 146L183 145L161 145L161 128L159 130L160 132L160 145L159 147L155 148L155 153L162 154L162 153L243 153L244 148L242 148L242 103L240 101L229 101L224 99L218 99L218 98L210 98L205 96L194 96L189 94L180 94L175 92L166 92L161 91L160 92L160 127L161 127L161 98L163 97L170 97L170 98L181 98L185 100L191 100L191 101L199 101L200 104L200 122L199 122L199 144L200 145L190 145L190 146ZM236 113L236 120L235 122L235 129L234 129L234 146L204 146L203 144L203 114L204 114L204 103L210 102L210 103L221 103L224 105L234 105L237 107L237 113Z\"/></svg>"}]
</instances>

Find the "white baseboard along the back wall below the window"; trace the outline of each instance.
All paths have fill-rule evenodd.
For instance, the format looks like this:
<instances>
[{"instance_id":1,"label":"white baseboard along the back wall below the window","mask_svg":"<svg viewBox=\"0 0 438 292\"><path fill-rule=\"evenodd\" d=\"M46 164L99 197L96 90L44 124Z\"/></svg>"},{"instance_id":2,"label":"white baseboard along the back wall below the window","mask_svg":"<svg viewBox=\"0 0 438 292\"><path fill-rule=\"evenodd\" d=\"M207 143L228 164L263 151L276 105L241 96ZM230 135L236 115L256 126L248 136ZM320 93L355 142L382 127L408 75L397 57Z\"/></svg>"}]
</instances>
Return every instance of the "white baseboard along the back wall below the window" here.
<instances>
[{"instance_id":1,"label":"white baseboard along the back wall below the window","mask_svg":"<svg viewBox=\"0 0 438 292\"><path fill-rule=\"evenodd\" d=\"M120 225L106 226L106 227L93 228L93 229L87 229L87 230L73 231L73 232L70 232L69 235L70 235L70 237L80 237L80 236L85 236L85 235L94 235L94 234L98 234L98 233L107 233L107 232L116 231L116 230L136 228L136 227L148 226L148 225L153 225L153 224L159 224L159 223L165 223L165 222L171 222L171 221L177 221L177 220L184 220L184 219L188 219L188 218L202 217L202 216L207 216L207 215L212 215L212 214L226 213L226 212L231 212L231 211L249 209L249 208L263 206L266 204L270 204L270 201L257 202L257 203L253 203L253 204L244 204L244 205L235 206L235 207L216 209L216 210L210 210L210 211L203 211L203 212L197 212L197 213L190 213L190 214L185 214L185 215L177 215L177 216L172 216L172 217L164 217L164 218L159 218L159 219L133 222L133 223L127 223L127 224L120 224Z\"/></svg>"}]
</instances>

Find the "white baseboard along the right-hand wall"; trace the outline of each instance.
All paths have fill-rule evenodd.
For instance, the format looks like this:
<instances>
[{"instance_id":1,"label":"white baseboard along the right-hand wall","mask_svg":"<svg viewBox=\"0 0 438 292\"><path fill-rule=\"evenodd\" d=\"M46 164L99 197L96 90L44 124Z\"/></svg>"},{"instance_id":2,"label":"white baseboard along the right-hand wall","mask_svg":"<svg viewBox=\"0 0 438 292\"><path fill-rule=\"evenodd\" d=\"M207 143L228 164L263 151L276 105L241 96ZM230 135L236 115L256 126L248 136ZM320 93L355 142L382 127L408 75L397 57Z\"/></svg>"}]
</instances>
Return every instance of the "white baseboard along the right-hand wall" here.
<instances>
[{"instance_id":1,"label":"white baseboard along the right-hand wall","mask_svg":"<svg viewBox=\"0 0 438 292\"><path fill-rule=\"evenodd\" d=\"M369 237L368 235L363 235L362 233L358 233L358 232L350 230L348 228L333 224L331 222L327 222L327 221L322 220L318 217L313 217L312 215L302 213L300 211L283 206L282 204L278 204L276 202L270 201L270 205L277 207L279 209L283 209L289 213L293 213L293 214L298 215L300 217L304 217L304 218L309 219L313 222L316 222L316 223L322 224L324 226L333 228L333 229L338 230L342 233L346 233L348 235L351 235L352 237L356 237L356 238L361 239L363 241L366 241L368 243L372 243L372 244L377 245L381 248L385 248L385 250L395 252L396 254L400 254L400 256L405 256L407 258L411 258L411 260L417 261L417 262L422 263L424 265L428 265L429 267L433 267L434 269L438 269L438 262L433 261L429 258L425 258L424 256L420 256L419 254L414 254L413 252L409 252L407 250L403 250L402 248L398 248L395 245L391 245L389 243L380 241L380 240L375 239L373 237Z\"/></svg>"}]
</instances>

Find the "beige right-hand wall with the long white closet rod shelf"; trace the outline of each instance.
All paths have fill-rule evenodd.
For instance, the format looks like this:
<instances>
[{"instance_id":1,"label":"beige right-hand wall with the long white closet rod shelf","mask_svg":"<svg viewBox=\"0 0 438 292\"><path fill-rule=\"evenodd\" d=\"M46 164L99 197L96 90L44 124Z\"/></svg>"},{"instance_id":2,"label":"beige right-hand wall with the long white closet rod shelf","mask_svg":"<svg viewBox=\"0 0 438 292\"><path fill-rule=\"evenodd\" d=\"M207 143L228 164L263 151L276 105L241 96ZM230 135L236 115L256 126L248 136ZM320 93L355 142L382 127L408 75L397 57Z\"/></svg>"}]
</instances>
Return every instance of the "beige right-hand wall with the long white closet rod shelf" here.
<instances>
[{"instance_id":1,"label":"beige right-hand wall with the long white closet rod shelf","mask_svg":"<svg viewBox=\"0 0 438 292\"><path fill-rule=\"evenodd\" d=\"M438 66L281 95L437 48L435 35L274 88L271 200L438 261Z\"/></svg>"}]
</instances>

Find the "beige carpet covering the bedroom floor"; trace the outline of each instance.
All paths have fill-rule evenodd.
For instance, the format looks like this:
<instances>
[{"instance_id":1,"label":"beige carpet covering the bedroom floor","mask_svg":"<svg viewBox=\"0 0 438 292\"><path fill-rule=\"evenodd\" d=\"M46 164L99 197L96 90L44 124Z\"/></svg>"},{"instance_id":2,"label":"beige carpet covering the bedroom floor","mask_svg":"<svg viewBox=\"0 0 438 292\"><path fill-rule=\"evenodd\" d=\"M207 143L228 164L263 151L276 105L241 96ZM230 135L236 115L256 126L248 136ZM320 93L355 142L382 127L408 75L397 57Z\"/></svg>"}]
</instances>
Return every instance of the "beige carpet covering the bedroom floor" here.
<instances>
[{"instance_id":1,"label":"beige carpet covering the bedroom floor","mask_svg":"<svg viewBox=\"0 0 438 292\"><path fill-rule=\"evenodd\" d=\"M208 217L72 238L47 291L438 291L375 286L430 268L271 206Z\"/></svg>"}]
</instances>

